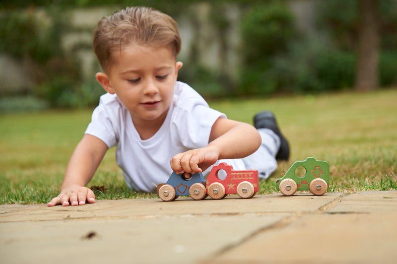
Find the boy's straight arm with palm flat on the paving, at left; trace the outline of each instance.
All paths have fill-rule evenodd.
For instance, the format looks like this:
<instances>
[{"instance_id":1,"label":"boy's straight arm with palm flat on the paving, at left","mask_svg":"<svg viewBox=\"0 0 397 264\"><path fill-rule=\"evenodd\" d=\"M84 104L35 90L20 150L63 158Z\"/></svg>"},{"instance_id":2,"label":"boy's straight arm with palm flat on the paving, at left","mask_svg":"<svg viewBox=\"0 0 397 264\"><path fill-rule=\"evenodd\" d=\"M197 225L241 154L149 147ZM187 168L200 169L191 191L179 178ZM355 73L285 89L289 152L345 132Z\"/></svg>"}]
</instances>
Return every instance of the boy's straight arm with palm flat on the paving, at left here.
<instances>
[{"instance_id":1,"label":"boy's straight arm with palm flat on the paving, at left","mask_svg":"<svg viewBox=\"0 0 397 264\"><path fill-rule=\"evenodd\" d=\"M84 205L95 202L95 195L85 186L91 180L108 146L96 136L85 134L74 149L66 167L61 194L47 205Z\"/></svg>"}]
</instances>

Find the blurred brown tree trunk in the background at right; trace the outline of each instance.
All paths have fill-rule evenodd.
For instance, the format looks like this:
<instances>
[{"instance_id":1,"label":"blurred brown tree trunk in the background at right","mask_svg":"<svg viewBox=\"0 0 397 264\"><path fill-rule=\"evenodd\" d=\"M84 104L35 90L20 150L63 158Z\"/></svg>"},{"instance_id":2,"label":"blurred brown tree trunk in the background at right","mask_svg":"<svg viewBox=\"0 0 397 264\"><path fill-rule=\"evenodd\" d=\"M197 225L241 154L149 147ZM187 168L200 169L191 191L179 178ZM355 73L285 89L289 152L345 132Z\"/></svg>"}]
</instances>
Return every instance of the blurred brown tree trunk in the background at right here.
<instances>
[{"instance_id":1,"label":"blurred brown tree trunk in the background at right","mask_svg":"<svg viewBox=\"0 0 397 264\"><path fill-rule=\"evenodd\" d=\"M359 43L355 89L379 88L380 32L378 0L359 0Z\"/></svg>"}]
</instances>

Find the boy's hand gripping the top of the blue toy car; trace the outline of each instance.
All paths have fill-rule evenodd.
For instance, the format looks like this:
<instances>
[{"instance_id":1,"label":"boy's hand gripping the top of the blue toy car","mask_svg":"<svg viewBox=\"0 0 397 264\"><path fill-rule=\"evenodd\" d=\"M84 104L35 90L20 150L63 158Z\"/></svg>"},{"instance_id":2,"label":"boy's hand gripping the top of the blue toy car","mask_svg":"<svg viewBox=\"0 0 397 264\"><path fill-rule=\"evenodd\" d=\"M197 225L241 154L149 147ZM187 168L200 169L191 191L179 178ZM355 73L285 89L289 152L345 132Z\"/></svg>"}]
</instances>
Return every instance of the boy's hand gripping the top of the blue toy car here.
<instances>
[{"instance_id":1,"label":"boy's hand gripping the top of the blue toy car","mask_svg":"<svg viewBox=\"0 0 397 264\"><path fill-rule=\"evenodd\" d=\"M219 157L215 147L206 146L176 154L171 159L171 169L178 174L201 173L214 164ZM186 176L185 176L186 177ZM186 177L189 178L189 177Z\"/></svg>"}]
</instances>

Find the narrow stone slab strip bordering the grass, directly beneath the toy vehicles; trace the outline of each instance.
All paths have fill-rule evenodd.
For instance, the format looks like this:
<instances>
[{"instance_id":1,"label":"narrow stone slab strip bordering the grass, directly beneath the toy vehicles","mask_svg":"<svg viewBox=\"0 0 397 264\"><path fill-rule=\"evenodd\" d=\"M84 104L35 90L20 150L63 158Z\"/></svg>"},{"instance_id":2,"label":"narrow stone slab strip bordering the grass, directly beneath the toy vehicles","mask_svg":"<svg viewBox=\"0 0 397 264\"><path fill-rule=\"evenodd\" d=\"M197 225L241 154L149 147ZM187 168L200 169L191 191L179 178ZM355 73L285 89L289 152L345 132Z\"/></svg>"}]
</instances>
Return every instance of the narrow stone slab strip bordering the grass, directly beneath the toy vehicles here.
<instances>
[{"instance_id":1,"label":"narrow stone slab strip bordering the grass, directly beneath the toy vehicles","mask_svg":"<svg viewBox=\"0 0 397 264\"><path fill-rule=\"evenodd\" d=\"M84 206L55 206L43 204L0 205L0 222L48 221L81 218L154 218L185 214L244 214L244 213L291 213L318 210L342 194L326 194L315 197L296 195L293 199L280 194L258 195L250 199L228 196L221 200L206 198L193 200L178 198L172 202L160 199L98 200Z\"/></svg>"}]
</instances>

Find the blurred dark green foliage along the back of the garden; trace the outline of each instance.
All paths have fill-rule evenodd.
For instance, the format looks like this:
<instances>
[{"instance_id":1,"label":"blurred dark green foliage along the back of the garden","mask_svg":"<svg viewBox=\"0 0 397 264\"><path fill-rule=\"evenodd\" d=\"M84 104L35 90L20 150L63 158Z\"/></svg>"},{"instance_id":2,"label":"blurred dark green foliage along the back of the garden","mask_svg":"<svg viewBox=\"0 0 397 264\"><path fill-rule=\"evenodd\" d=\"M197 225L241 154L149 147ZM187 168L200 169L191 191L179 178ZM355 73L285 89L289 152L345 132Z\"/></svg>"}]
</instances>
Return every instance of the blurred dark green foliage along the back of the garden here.
<instances>
[{"instance_id":1,"label":"blurred dark green foliage along the back of the garden","mask_svg":"<svg viewBox=\"0 0 397 264\"><path fill-rule=\"evenodd\" d=\"M76 56L76 47L67 51L62 43L72 30L84 33L84 29L72 28L66 10L103 6L113 11L132 5L152 6L173 16L180 25L181 15L194 17L197 6L202 3L209 6L205 19L215 28L220 64L215 69L203 64L199 45L195 45L195 41L183 43L190 46L179 76L204 98L352 89L358 60L358 0L308 1L312 2L315 14L308 28L297 26L298 18L291 7L294 2L304 0L0 1L0 55L17 61L31 82L30 89L0 89L0 112L24 108L81 108L98 103L104 91L96 83L95 72L90 73L91 77L83 74L84 66ZM390 87L397 83L397 1L378 0L378 3L379 84ZM239 17L234 20L228 18L230 6L239 10ZM45 15L37 15L40 12ZM94 24L99 19L96 17ZM234 71L229 68L229 54L222 52L231 50L233 21L238 21L237 33L233 34L239 34L240 39L237 49L233 50L238 55ZM199 16L191 22L195 27L200 23ZM90 28L90 34L94 27ZM192 32L189 33L193 38L200 38L195 35L198 31ZM78 48L83 53L91 52L89 45ZM100 70L98 65L95 67Z\"/></svg>"}]
</instances>

